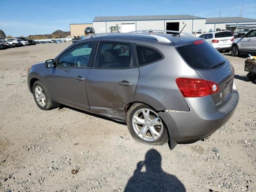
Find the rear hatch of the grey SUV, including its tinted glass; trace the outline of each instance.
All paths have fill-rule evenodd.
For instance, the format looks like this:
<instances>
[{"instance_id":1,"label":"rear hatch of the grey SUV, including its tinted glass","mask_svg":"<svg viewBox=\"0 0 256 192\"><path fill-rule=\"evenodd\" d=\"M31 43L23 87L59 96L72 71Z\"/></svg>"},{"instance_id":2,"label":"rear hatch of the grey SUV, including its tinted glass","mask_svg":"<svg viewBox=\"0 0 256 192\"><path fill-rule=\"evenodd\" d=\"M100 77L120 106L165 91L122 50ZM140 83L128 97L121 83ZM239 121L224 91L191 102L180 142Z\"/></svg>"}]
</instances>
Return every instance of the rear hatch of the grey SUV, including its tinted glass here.
<instances>
[{"instance_id":1,"label":"rear hatch of the grey SUV, including its tinted glass","mask_svg":"<svg viewBox=\"0 0 256 192\"><path fill-rule=\"evenodd\" d=\"M224 106L232 96L234 82L234 68L229 61L202 39L183 40L175 47L180 56L202 79L218 84L220 91L211 96L218 109Z\"/></svg>"}]
</instances>

